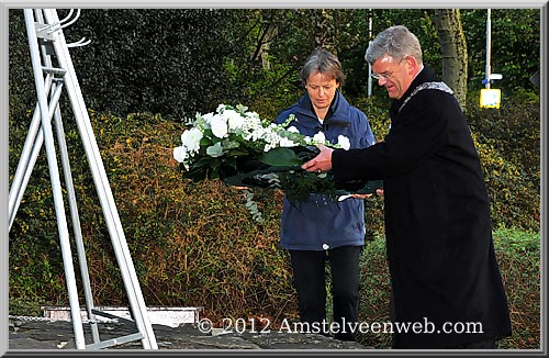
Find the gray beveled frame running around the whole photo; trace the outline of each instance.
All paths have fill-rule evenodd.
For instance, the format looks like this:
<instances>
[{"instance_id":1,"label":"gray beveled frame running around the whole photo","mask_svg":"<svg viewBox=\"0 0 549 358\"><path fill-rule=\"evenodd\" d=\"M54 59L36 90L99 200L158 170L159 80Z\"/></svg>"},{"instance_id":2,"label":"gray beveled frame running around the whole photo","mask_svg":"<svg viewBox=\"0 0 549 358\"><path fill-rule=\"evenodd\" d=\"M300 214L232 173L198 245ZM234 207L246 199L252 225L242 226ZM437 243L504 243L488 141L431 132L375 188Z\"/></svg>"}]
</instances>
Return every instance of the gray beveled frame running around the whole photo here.
<instances>
[{"instance_id":1,"label":"gray beveled frame running around the whole photo","mask_svg":"<svg viewBox=\"0 0 549 358\"><path fill-rule=\"evenodd\" d=\"M330 9L358 9L358 8L370 8L370 9L434 9L434 8L460 8L460 9L540 9L541 14L541 29L540 29L540 44L541 44L541 54L540 54L540 105L541 105L541 118L540 118L540 135L541 135L541 222L540 222L540 253L541 253L541 267L540 267L540 350L498 350L496 356L507 356L507 355L517 355L522 354L534 355L538 354L546 356L547 355L547 284L546 284L546 269L547 269L547 47L548 41L547 33L548 29L548 2L547 0L515 0L515 1L495 1L495 0L485 0L485 1L471 1L471 0L461 0L461 1L360 1L360 0L341 0L341 1L290 1L290 0L277 0L277 1L253 1L253 0L239 0L239 1L231 1L231 0L217 0L217 1L121 1L121 0L96 0L96 1L78 1L78 8L81 9L108 9L108 8L117 8L117 9L154 9L154 8L188 8L188 9L259 9L259 8L268 8L268 9L322 9L322 8L330 8ZM8 46L9 46L9 23L8 23L8 11L10 9L24 9L24 8L58 8L58 9L69 9L75 7L75 1L18 1L18 0L0 0L0 78L2 79L0 82L0 355L14 356L18 355L16 351L9 350L9 325L8 325L8 312L9 312L9 289L8 289L8 275L9 275L9 233L8 233L8 200L9 200L9 125L8 125L8 115L9 115L9 101L8 101L8 90L9 90L9 71L8 71ZM422 351L422 350L419 350ZM54 355L58 355L61 351L54 351ZM63 351L65 353L65 351ZM89 351L81 350L71 350L71 356L76 354L86 355ZM113 351L110 350L109 354ZM216 355L216 351L169 351L171 354L176 354L178 356L181 355ZM232 351L233 353L233 351ZM278 354L281 351L279 350ZM299 353L295 350L284 350L284 354L289 355ZM377 349L372 349L371 354L373 355L401 355L408 354L410 351L380 351ZM444 351L422 351L423 356L429 356L433 354L445 354ZM473 354L479 354L480 351L473 351ZM42 355L41 351L36 350L25 350L24 356L33 356L33 355ZM142 356L142 351L132 353L120 351L120 355L139 355ZM143 351L143 356L146 355L158 356L159 354L168 354L166 350L148 350ZM226 351L217 353L222 355L227 355ZM246 354L258 354L257 351L237 351L234 354L242 356ZM314 350L312 351L314 356L322 356L325 351ZM326 354L329 354L327 351ZM338 355L351 354L348 351L338 351ZM415 355L417 351L415 351ZM47 355L47 353L46 353ZM117 354L119 355L119 354ZM261 351L261 355L277 355L277 350L274 351ZM369 351L361 350L360 355L369 355ZM450 354L448 354L450 355ZM455 354L451 354L455 355Z\"/></svg>"}]
</instances>

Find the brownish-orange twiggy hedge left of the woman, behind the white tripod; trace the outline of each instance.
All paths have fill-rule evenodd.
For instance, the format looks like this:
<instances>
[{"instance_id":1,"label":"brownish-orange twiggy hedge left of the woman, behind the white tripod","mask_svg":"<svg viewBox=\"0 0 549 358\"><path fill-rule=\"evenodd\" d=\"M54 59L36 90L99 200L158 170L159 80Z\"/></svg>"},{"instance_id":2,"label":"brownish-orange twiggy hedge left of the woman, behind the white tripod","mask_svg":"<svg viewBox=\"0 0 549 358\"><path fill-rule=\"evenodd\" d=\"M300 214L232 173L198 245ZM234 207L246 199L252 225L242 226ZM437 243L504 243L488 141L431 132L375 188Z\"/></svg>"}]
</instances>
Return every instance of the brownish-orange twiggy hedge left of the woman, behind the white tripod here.
<instances>
[{"instance_id":1,"label":"brownish-orange twiggy hedge left of the woman, behind the white tripod","mask_svg":"<svg viewBox=\"0 0 549 358\"><path fill-rule=\"evenodd\" d=\"M256 194L265 219L258 225L243 192L181 179L172 148L182 125L150 114L92 113L92 123L148 304L201 305L212 317L295 312L287 253L278 247L280 194ZM96 302L124 304L92 179L79 158L82 149L71 164ZM10 295L60 303L67 294L43 161L34 172L44 180L32 178L11 232Z\"/></svg>"}]
</instances>

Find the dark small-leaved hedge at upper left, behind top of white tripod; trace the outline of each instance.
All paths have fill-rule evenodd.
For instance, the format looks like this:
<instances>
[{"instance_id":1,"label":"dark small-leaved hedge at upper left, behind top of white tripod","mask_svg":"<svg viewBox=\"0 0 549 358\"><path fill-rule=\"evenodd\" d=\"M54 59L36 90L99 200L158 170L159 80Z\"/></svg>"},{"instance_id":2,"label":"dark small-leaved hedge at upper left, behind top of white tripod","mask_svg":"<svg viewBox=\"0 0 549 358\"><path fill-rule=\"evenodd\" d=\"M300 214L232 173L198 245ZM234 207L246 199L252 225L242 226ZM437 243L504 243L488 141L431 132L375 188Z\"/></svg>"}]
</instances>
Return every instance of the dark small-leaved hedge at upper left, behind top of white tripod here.
<instances>
[{"instance_id":1,"label":"dark small-leaved hedge at upper left, behind top of white tripod","mask_svg":"<svg viewBox=\"0 0 549 358\"><path fill-rule=\"evenodd\" d=\"M64 30L86 103L114 113L161 112L173 118L215 109L227 87L224 59L236 52L238 12L226 9L85 9ZM68 15L59 9L58 16ZM34 105L23 10L9 11L10 105ZM238 54L242 52L238 47ZM54 57L55 58L55 57ZM237 96L237 94L236 94Z\"/></svg>"}]
</instances>

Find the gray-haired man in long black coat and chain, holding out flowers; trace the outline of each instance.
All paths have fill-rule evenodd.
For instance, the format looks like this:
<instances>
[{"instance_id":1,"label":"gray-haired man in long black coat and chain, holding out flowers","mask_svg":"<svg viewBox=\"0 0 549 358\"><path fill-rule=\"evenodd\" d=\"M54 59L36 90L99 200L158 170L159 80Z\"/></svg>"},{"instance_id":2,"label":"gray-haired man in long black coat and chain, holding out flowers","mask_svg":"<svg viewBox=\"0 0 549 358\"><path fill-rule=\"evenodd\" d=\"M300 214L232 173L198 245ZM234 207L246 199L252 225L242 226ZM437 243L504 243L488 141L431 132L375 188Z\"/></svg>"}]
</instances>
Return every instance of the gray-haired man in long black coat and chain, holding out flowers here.
<instances>
[{"instance_id":1,"label":"gray-haired man in long black coat and chain, holding out flowers","mask_svg":"<svg viewBox=\"0 0 549 358\"><path fill-rule=\"evenodd\" d=\"M466 118L405 26L380 33L366 60L393 99L389 134L363 149L321 146L303 168L383 179L394 348L496 348L509 311Z\"/></svg>"}]
</instances>

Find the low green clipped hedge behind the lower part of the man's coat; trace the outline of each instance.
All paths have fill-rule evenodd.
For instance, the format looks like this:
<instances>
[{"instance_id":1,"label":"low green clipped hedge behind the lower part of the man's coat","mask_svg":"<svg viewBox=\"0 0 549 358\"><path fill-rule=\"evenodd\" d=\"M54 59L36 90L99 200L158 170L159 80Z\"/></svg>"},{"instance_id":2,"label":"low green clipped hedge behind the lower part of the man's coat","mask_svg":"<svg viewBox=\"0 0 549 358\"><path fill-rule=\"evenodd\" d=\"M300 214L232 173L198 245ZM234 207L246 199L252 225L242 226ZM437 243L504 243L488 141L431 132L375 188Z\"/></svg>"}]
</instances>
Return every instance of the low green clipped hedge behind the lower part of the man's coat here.
<instances>
[{"instance_id":1,"label":"low green clipped hedge behind the lower part of the man's coat","mask_svg":"<svg viewBox=\"0 0 549 358\"><path fill-rule=\"evenodd\" d=\"M513 334L501 349L540 348L540 235L530 231L496 228L494 248L509 301ZM391 292L384 237L365 246L360 262L360 322L389 322ZM390 349L390 334L359 334L357 339L376 349Z\"/></svg>"}]
</instances>

